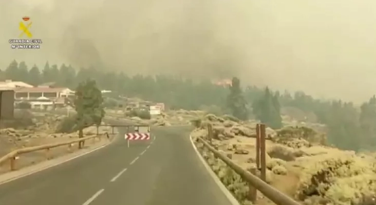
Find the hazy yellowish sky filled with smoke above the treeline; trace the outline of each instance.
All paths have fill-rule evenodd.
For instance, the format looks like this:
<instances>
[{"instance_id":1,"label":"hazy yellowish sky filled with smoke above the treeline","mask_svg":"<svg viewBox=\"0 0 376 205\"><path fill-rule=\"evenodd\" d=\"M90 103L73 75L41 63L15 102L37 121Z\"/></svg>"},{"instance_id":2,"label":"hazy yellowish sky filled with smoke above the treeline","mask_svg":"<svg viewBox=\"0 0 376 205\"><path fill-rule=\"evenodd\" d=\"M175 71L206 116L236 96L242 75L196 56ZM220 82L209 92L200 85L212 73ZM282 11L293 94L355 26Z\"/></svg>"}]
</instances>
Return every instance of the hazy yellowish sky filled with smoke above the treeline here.
<instances>
[{"instance_id":1,"label":"hazy yellowish sky filled with smoke above the treeline","mask_svg":"<svg viewBox=\"0 0 376 205\"><path fill-rule=\"evenodd\" d=\"M0 66L67 63L360 102L376 93L374 0L0 0ZM23 16L40 50L11 50Z\"/></svg>"}]
</instances>

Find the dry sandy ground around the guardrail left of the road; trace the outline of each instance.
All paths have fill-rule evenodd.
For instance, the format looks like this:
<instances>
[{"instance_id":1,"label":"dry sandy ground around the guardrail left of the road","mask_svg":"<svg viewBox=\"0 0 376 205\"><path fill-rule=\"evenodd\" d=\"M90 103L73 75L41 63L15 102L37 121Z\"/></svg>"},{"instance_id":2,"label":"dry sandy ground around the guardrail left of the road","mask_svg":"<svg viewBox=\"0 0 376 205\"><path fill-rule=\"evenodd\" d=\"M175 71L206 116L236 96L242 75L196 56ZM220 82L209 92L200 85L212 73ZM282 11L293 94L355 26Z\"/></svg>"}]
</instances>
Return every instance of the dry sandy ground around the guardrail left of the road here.
<instances>
[{"instance_id":1,"label":"dry sandy ground around the guardrail left of the road","mask_svg":"<svg viewBox=\"0 0 376 205\"><path fill-rule=\"evenodd\" d=\"M20 114L20 113L17 113ZM56 133L57 127L65 116L31 113L23 111L22 118L17 118L12 122L7 122L8 128L0 129L0 156L25 147L39 146L56 142L69 141L78 138L78 133ZM110 133L110 127L100 127L99 133ZM97 128L89 127L84 129L84 137L96 135ZM85 146L91 146L96 141L88 140ZM78 145L73 145L70 151L78 149ZM52 157L57 157L64 153L69 153L67 147L58 147L51 149ZM20 156L22 160L21 167L30 163L44 160L43 151L37 151ZM0 173L9 170L9 166L0 166Z\"/></svg>"}]
</instances>

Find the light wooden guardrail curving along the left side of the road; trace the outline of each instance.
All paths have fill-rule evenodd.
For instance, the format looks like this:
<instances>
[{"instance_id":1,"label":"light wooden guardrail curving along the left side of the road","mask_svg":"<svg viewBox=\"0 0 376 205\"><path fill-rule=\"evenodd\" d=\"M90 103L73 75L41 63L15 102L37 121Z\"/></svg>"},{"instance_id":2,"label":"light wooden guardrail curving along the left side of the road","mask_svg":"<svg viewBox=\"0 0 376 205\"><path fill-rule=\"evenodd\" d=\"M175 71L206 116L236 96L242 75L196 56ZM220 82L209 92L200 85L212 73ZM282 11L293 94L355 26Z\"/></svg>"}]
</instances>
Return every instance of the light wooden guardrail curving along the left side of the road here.
<instances>
[{"instance_id":1,"label":"light wooden guardrail curving along the left side of the road","mask_svg":"<svg viewBox=\"0 0 376 205\"><path fill-rule=\"evenodd\" d=\"M106 134L106 135L107 135L107 138L109 139L108 134ZM14 150L14 151L6 154L5 156L1 157L0 158L0 165L2 165L7 160L10 160L10 170L14 171L14 170L16 170L16 168L15 168L15 160L21 154L26 154L26 153L40 151L40 150L46 150L46 158L49 159L49 150L51 148L61 147L61 146L68 145L68 150L70 150L71 147L72 147L72 145L74 143L84 142L85 140L88 140L88 139L94 139L94 140L100 141L102 136L103 135L89 136L89 137L83 137L83 138L73 139L73 140L69 140L69 141L65 141L65 142L57 142L57 143L54 143L54 144L47 144L47 145L34 146L34 147L26 147L26 148L22 148L22 149L17 149L17 150Z\"/></svg>"}]
</instances>

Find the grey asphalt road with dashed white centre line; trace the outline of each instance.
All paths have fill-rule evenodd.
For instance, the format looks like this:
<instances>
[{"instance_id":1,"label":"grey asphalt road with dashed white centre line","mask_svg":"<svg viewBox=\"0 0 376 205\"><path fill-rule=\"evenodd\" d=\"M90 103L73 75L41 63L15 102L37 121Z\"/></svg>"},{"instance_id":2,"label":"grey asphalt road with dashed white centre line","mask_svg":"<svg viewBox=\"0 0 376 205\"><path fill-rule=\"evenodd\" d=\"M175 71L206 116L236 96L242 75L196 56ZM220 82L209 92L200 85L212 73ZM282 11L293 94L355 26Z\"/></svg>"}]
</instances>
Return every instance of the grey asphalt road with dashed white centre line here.
<instances>
[{"instance_id":1,"label":"grey asphalt road with dashed white centre line","mask_svg":"<svg viewBox=\"0 0 376 205\"><path fill-rule=\"evenodd\" d=\"M0 205L230 204L193 150L188 128L153 132L154 141L131 142L127 148L119 138L88 155L0 185Z\"/></svg>"}]
</instances>

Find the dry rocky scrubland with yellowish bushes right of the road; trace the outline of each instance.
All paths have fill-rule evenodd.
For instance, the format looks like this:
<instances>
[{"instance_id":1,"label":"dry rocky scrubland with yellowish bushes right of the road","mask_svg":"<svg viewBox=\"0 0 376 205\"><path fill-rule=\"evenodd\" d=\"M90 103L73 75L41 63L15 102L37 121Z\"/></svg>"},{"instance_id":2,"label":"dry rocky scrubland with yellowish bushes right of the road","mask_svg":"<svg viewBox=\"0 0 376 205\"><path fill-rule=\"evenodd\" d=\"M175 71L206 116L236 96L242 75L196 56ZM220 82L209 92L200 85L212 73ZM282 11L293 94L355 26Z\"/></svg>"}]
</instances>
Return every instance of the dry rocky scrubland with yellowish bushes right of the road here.
<instances>
[{"instance_id":1,"label":"dry rocky scrubland with yellowish bushes right of the road","mask_svg":"<svg viewBox=\"0 0 376 205\"><path fill-rule=\"evenodd\" d=\"M192 137L206 137L213 127L213 146L243 169L255 165L257 121L242 122L231 116L206 115L196 121ZM317 125L316 125L317 126ZM318 126L323 127L323 126ZM376 154L343 151L326 145L326 136L304 126L267 128L267 182L304 204L376 204ZM211 153L202 155L222 182L243 204L248 187L239 176ZM273 204L258 194L260 204ZM262 203L263 202L263 203Z\"/></svg>"}]
</instances>

